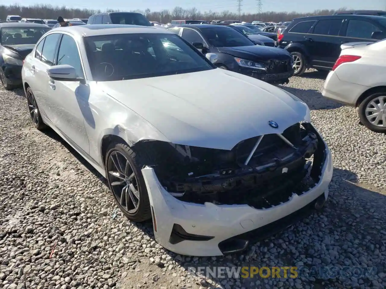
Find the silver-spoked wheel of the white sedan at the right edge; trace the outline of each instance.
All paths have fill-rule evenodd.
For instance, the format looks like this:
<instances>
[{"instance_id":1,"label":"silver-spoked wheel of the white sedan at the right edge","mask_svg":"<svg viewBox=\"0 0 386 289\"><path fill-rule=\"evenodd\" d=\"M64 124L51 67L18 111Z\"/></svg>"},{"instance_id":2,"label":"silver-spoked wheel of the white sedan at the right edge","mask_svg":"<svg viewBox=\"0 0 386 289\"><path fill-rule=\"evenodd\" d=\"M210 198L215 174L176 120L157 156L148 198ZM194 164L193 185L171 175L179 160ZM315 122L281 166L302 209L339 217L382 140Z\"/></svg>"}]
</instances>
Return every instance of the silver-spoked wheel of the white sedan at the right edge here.
<instances>
[{"instance_id":1,"label":"silver-spoked wheel of the white sedan at the right edge","mask_svg":"<svg viewBox=\"0 0 386 289\"><path fill-rule=\"evenodd\" d=\"M386 91L366 97L359 105L359 119L375 133L386 133Z\"/></svg>"}]
</instances>

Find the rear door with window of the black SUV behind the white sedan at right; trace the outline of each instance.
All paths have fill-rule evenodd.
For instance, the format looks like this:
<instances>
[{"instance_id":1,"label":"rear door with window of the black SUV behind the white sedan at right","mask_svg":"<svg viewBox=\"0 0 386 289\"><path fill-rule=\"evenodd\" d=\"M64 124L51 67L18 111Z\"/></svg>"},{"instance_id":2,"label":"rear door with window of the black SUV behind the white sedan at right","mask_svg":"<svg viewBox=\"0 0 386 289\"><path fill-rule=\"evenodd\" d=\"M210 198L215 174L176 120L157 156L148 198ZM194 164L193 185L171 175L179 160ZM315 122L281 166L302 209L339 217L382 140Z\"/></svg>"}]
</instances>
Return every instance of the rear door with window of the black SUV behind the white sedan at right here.
<instances>
[{"instance_id":1,"label":"rear door with window of the black SUV behind the white sedan at right","mask_svg":"<svg viewBox=\"0 0 386 289\"><path fill-rule=\"evenodd\" d=\"M306 40L310 47L311 65L320 68L332 68L340 55L340 45L344 17L321 19L313 27L312 35Z\"/></svg>"}]
</instances>

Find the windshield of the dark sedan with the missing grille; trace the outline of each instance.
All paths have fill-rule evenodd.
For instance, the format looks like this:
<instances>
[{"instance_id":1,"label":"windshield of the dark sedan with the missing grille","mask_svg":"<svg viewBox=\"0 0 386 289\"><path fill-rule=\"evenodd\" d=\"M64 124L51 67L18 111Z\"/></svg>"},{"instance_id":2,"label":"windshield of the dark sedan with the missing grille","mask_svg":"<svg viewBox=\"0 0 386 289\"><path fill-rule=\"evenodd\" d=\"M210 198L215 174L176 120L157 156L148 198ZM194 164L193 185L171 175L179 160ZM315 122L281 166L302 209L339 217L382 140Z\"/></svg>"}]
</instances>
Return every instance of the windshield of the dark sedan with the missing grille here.
<instances>
[{"instance_id":1,"label":"windshield of the dark sedan with the missing grille","mask_svg":"<svg viewBox=\"0 0 386 289\"><path fill-rule=\"evenodd\" d=\"M215 47L238 47L255 45L244 35L230 27L201 28L201 33Z\"/></svg>"}]
</instances>

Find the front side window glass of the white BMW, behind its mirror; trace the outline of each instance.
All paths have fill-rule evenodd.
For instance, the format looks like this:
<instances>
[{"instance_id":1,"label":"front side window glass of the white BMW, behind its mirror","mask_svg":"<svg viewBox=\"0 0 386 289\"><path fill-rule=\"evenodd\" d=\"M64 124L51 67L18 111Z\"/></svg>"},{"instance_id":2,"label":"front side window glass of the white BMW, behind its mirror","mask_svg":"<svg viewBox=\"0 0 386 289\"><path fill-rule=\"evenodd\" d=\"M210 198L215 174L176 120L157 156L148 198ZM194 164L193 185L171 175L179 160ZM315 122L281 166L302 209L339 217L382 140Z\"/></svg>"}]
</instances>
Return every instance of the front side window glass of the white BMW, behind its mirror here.
<instances>
[{"instance_id":1,"label":"front side window glass of the white BMW, behind its mirror","mask_svg":"<svg viewBox=\"0 0 386 289\"><path fill-rule=\"evenodd\" d=\"M63 34L60 42L58 61L56 64L68 64L75 68L76 77L84 78L78 47L76 46L75 40L67 34Z\"/></svg>"}]
</instances>

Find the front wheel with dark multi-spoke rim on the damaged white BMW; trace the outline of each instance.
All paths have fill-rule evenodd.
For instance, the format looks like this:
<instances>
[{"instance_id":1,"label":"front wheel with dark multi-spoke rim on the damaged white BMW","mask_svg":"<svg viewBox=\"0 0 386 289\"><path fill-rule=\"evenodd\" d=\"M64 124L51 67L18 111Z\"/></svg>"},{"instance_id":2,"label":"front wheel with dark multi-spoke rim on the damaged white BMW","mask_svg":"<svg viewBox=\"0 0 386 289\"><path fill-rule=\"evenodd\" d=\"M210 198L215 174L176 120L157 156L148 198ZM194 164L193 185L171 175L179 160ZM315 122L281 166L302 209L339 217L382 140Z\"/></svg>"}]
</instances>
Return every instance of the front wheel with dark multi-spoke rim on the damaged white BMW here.
<instances>
[{"instance_id":1,"label":"front wheel with dark multi-spoke rim on the damaged white BMW","mask_svg":"<svg viewBox=\"0 0 386 289\"><path fill-rule=\"evenodd\" d=\"M143 222L151 218L151 208L142 167L144 155L127 144L110 144L105 160L108 186L122 213L131 221Z\"/></svg>"}]
</instances>

